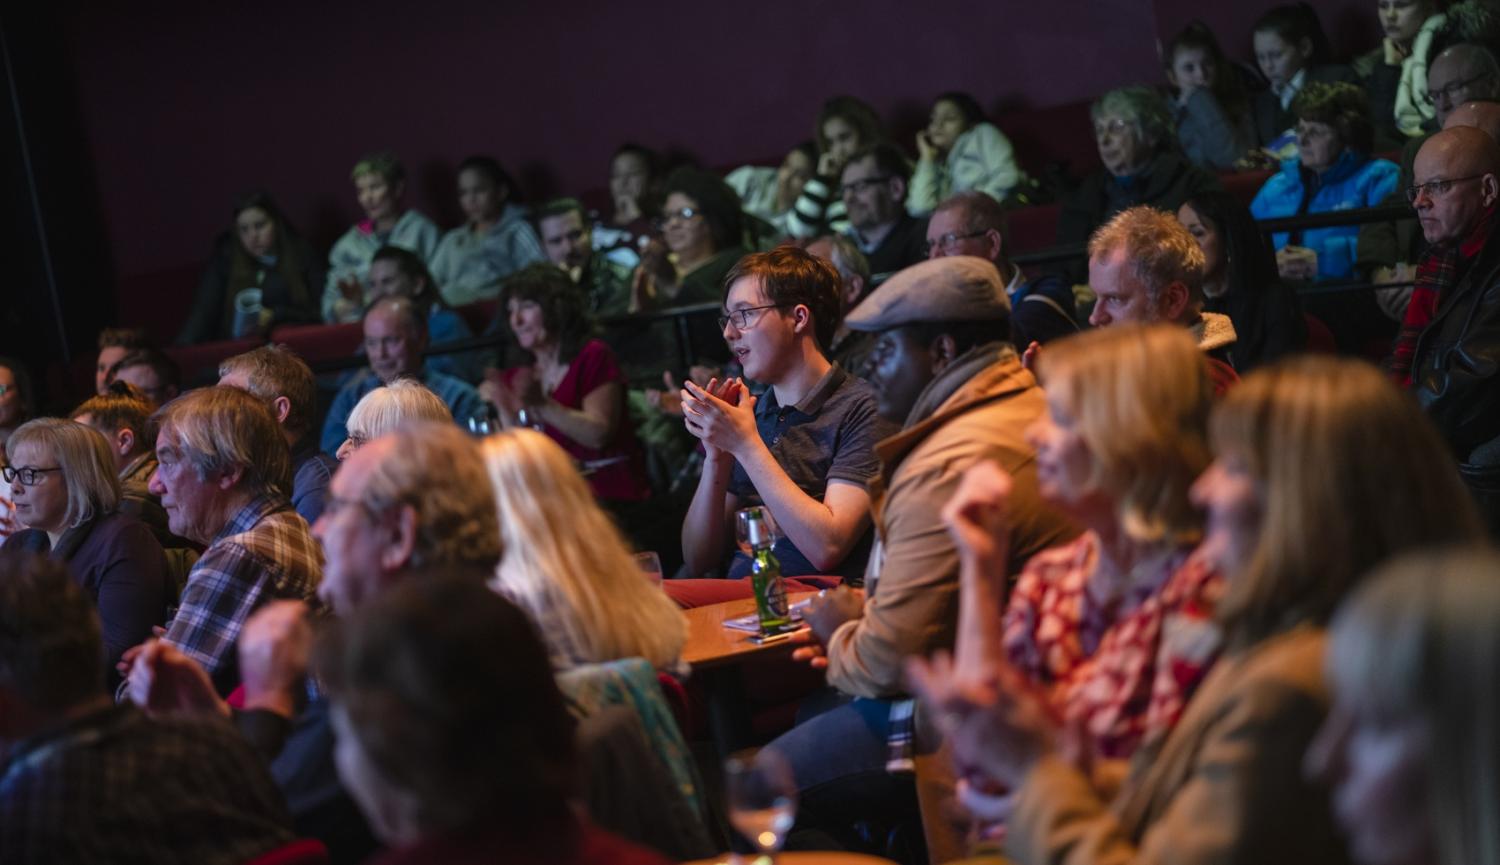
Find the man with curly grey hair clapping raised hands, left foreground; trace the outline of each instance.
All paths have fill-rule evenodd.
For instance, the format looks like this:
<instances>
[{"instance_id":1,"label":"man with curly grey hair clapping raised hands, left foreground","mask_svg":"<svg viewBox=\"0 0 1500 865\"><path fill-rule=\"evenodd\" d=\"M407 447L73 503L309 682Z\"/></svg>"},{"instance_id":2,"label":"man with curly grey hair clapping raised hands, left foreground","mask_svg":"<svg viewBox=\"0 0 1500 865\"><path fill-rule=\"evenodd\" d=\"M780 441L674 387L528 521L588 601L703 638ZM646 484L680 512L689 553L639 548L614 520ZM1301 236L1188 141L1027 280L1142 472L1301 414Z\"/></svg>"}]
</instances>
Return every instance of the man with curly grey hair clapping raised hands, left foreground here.
<instances>
[{"instance_id":1,"label":"man with curly grey hair clapping raised hands, left foreground","mask_svg":"<svg viewBox=\"0 0 1500 865\"><path fill-rule=\"evenodd\" d=\"M402 580L484 582L500 564L489 475L474 439L453 424L411 423L366 442L339 463L328 493L314 534L327 556L318 597L334 616ZM232 715L270 760L298 831L328 844L336 862L357 862L374 840L333 771L328 706L306 676L310 646L306 604L273 603L240 639L243 711L231 712L202 667L165 642L142 651L129 693L154 714Z\"/></svg>"}]
</instances>

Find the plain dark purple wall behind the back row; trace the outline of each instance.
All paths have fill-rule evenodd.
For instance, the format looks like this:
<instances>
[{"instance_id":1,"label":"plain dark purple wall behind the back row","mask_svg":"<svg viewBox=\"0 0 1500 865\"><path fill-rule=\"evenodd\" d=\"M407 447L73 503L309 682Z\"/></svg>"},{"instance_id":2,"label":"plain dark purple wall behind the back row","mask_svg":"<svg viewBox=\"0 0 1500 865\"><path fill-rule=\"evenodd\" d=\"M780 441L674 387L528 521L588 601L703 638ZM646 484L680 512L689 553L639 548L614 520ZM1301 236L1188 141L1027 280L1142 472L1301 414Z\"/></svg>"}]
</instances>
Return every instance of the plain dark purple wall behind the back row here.
<instances>
[{"instance_id":1,"label":"plain dark purple wall behind the back row","mask_svg":"<svg viewBox=\"0 0 1500 865\"><path fill-rule=\"evenodd\" d=\"M418 12L418 6L424 12ZM1316 3L1330 28L1372 0ZM114 4L69 16L117 277L207 255L238 190L266 187L315 238L357 214L348 169L393 148L414 205L452 222L452 165L506 162L532 195L603 184L622 139L710 165L777 157L820 100L914 129L940 90L1004 117L1160 81L1156 39L1192 15L1248 58L1258 6L1198 0ZM1346 27L1347 28L1347 27ZM1358 30L1358 27L1354 28ZM1071 126L1071 124L1070 124ZM1086 126L1056 135L1086 139ZM1072 150L1077 150L1074 147ZM122 316L132 318L132 316Z\"/></svg>"}]
</instances>

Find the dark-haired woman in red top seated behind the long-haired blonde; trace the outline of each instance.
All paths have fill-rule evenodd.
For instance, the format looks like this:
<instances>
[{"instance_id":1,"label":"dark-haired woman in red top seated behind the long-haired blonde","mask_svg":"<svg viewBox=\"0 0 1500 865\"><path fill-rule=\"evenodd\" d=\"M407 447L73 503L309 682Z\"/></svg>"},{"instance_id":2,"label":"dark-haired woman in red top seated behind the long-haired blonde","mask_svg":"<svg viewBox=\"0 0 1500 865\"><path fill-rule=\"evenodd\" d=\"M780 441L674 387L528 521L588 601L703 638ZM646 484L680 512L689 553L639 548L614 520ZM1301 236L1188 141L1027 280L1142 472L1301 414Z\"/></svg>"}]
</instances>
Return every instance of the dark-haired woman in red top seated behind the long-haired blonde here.
<instances>
[{"instance_id":1,"label":"dark-haired woman in red top seated behind the long-haired blonde","mask_svg":"<svg viewBox=\"0 0 1500 865\"><path fill-rule=\"evenodd\" d=\"M645 456L626 409L615 352L591 337L588 301L560 268L534 264L506 282L516 345L531 363L490 372L480 394L504 427L531 426L576 459L594 495L638 502L651 495Z\"/></svg>"}]
</instances>

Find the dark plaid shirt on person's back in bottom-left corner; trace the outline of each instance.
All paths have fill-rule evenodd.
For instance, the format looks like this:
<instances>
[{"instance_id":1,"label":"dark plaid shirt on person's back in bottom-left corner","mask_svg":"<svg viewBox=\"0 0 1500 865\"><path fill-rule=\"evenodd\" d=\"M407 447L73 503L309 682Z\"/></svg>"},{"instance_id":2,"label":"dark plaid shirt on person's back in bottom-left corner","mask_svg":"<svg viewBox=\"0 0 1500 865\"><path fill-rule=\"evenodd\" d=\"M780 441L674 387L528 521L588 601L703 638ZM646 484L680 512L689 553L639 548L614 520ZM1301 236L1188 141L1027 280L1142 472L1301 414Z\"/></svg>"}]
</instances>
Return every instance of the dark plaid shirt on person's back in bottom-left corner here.
<instances>
[{"instance_id":1,"label":"dark plaid shirt on person's back in bottom-left corner","mask_svg":"<svg viewBox=\"0 0 1500 865\"><path fill-rule=\"evenodd\" d=\"M291 819L234 727L108 706L0 763L0 862L242 864Z\"/></svg>"}]
</instances>

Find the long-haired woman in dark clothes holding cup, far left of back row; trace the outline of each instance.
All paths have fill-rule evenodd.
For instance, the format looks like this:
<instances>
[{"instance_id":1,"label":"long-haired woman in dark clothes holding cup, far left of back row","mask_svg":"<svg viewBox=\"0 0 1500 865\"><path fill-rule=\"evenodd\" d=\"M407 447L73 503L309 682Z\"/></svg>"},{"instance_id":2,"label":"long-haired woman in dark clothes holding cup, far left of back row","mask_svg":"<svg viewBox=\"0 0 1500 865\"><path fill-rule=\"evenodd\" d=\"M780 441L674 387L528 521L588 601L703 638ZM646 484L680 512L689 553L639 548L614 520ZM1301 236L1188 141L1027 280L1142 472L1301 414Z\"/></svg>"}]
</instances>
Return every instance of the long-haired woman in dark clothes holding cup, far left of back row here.
<instances>
[{"instance_id":1,"label":"long-haired woman in dark clothes holding cup, far left of back row","mask_svg":"<svg viewBox=\"0 0 1500 865\"><path fill-rule=\"evenodd\" d=\"M272 196L252 192L234 202L234 222L213 241L177 345L255 337L279 324L322 321L324 271Z\"/></svg>"}]
</instances>

